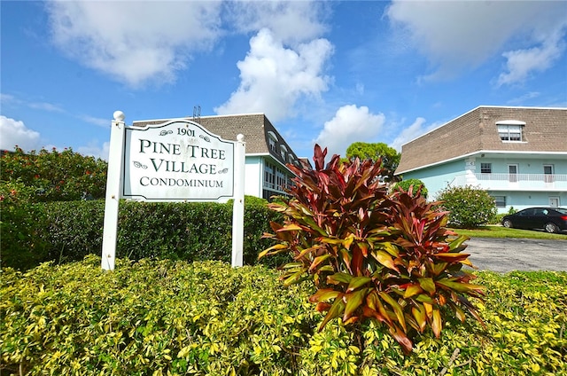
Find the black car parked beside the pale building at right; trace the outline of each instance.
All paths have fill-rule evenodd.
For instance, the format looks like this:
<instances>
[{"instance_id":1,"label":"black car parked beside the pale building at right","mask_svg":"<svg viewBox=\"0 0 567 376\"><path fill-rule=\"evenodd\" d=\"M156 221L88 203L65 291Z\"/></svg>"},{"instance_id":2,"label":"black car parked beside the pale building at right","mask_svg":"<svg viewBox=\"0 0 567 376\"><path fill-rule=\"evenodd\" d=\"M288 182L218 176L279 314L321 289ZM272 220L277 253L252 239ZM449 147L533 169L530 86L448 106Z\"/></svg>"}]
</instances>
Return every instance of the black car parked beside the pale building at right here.
<instances>
[{"instance_id":1,"label":"black car parked beside the pale building at right","mask_svg":"<svg viewBox=\"0 0 567 376\"><path fill-rule=\"evenodd\" d=\"M548 232L567 231L567 209L527 208L502 218L502 226L517 229L543 229Z\"/></svg>"}]
</instances>

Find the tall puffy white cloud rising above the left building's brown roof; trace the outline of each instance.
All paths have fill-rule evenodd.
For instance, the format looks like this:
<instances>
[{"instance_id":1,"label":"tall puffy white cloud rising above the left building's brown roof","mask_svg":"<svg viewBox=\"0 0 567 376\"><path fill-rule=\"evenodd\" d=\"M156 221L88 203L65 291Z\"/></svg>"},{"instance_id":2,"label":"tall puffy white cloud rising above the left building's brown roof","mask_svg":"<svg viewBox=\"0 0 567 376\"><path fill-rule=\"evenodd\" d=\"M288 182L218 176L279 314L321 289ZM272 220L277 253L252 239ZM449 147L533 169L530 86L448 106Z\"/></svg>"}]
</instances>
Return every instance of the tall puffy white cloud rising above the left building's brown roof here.
<instances>
[{"instance_id":1,"label":"tall puffy white cloud rising above the left building's brown roof","mask_svg":"<svg viewBox=\"0 0 567 376\"><path fill-rule=\"evenodd\" d=\"M326 39L286 48L264 28L250 40L250 51L237 63L240 86L217 114L265 113L272 121L289 116L299 98L318 98L330 78L323 66L332 53Z\"/></svg>"}]
</instances>

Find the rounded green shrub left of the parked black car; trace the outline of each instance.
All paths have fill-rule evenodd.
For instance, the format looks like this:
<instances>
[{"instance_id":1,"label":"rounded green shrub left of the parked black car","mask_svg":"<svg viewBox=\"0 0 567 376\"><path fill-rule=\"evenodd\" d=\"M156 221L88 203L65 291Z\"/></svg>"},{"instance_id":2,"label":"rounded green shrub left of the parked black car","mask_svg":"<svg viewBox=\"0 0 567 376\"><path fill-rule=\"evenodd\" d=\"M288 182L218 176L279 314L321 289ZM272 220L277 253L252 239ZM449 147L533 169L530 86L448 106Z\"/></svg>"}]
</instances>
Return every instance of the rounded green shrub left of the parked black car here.
<instances>
[{"instance_id":1,"label":"rounded green shrub left of the parked black car","mask_svg":"<svg viewBox=\"0 0 567 376\"><path fill-rule=\"evenodd\" d=\"M449 225L454 227L475 228L496 215L496 204L488 192L470 185L447 187L438 200L449 212Z\"/></svg>"}]
</instances>

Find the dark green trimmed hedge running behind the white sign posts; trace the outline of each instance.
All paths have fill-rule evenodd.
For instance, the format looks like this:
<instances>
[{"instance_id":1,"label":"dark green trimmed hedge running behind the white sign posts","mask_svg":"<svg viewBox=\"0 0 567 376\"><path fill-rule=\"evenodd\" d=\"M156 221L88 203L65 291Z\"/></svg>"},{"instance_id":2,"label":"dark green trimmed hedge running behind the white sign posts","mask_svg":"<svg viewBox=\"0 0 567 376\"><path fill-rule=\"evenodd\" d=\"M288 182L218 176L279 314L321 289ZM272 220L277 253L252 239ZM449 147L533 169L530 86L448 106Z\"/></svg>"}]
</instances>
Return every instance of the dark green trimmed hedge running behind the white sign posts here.
<instances>
[{"instance_id":1,"label":"dark green trimmed hedge running behind the white sign posts","mask_svg":"<svg viewBox=\"0 0 567 376\"><path fill-rule=\"evenodd\" d=\"M104 200L22 202L11 208L9 212L3 208L2 235L11 239L2 241L3 267L26 270L39 262L79 261L85 255L100 255ZM278 220L279 215L262 203L245 203L245 264L257 263L258 254L273 245L261 235L271 231L269 221ZM12 232L8 232L8 223ZM232 205L122 201L117 237L117 257L230 262ZM281 257L261 263L277 266L284 261Z\"/></svg>"}]
</instances>

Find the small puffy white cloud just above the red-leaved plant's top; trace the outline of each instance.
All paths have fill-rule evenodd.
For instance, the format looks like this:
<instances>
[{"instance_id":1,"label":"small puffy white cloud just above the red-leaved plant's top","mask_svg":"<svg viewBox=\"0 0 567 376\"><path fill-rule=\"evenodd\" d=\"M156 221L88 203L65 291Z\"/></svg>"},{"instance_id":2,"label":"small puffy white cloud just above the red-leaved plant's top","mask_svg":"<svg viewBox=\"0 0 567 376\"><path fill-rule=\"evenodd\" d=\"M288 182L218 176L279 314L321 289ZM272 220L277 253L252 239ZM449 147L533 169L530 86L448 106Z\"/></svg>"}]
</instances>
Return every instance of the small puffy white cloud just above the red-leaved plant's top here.
<instances>
[{"instance_id":1,"label":"small puffy white cloud just above the red-leaved plant's top","mask_svg":"<svg viewBox=\"0 0 567 376\"><path fill-rule=\"evenodd\" d=\"M374 142L384 126L384 114L371 114L369 107L342 106L335 117L326 121L315 143L327 148L327 155L346 156L354 142Z\"/></svg>"}]
</instances>

